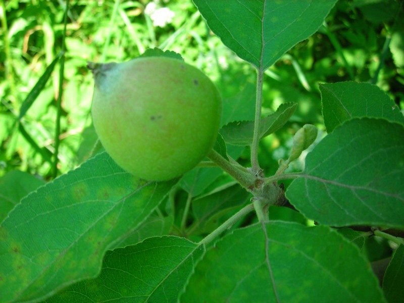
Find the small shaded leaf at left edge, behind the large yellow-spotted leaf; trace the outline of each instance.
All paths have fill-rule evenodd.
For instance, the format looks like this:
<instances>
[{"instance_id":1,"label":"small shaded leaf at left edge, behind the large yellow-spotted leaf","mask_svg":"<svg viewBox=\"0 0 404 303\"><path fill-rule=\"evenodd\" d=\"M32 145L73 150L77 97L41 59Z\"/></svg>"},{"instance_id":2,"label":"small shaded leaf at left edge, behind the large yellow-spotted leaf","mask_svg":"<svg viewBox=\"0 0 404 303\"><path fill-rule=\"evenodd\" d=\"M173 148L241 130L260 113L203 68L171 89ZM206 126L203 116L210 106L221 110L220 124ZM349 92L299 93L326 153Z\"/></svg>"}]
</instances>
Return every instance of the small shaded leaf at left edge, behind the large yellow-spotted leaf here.
<instances>
[{"instance_id":1,"label":"small shaded leaf at left edge, behind the large yellow-spotted leaf","mask_svg":"<svg viewBox=\"0 0 404 303\"><path fill-rule=\"evenodd\" d=\"M0 222L23 196L43 184L44 181L21 171L11 171L0 178Z\"/></svg>"}]
</instances>

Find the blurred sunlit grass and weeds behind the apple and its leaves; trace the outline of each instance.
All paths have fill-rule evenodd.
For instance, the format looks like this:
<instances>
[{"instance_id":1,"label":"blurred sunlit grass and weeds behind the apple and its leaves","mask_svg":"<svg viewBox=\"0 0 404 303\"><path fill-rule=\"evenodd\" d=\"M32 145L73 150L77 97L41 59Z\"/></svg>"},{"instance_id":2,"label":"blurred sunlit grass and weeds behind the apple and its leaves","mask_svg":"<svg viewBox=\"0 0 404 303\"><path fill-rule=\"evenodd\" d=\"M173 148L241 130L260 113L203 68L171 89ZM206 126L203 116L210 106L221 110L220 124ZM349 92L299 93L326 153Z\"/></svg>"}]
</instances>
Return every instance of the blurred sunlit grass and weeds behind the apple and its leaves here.
<instances>
[{"instance_id":1,"label":"blurred sunlit grass and weeds behind the apple and its leaves","mask_svg":"<svg viewBox=\"0 0 404 303\"><path fill-rule=\"evenodd\" d=\"M69 4L63 90L59 91L58 63L21 119L25 132L21 131L15 122L25 98L61 54L65 2L1 0L0 9L0 177L21 170L51 179L56 135L61 140L59 174L91 154L96 134L91 127L93 81L87 61L122 62L147 48L169 49L211 77L223 98L237 98L246 89L254 112L254 68L222 44L191 1L82 0ZM318 83L371 82L404 108L403 20L402 2L341 0L316 34L266 72L264 115L281 103L299 103L290 122L261 142L260 163L267 175L276 171L278 159L287 158L292 135L302 124L315 124L325 135ZM56 134L60 93L61 131ZM246 148L239 161L248 165L248 159ZM290 170L301 166L295 162Z\"/></svg>"}]
</instances>

